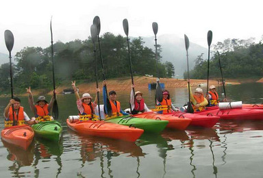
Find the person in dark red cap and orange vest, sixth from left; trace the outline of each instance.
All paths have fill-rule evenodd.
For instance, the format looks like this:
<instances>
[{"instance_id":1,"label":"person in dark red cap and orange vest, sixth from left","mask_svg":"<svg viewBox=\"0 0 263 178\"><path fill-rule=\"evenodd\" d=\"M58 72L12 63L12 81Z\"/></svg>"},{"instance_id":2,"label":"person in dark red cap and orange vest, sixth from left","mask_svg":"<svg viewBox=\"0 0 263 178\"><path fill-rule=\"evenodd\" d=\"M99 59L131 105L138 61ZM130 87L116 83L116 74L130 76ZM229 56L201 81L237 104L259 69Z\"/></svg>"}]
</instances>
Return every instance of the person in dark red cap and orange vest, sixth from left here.
<instances>
[{"instance_id":1,"label":"person in dark red cap and orange vest, sixth from left","mask_svg":"<svg viewBox=\"0 0 263 178\"><path fill-rule=\"evenodd\" d=\"M170 98L170 93L168 90L162 91L162 102L157 101L157 105L155 106L156 110L158 111L158 114L167 114L171 113L172 110L177 112L179 111L172 103Z\"/></svg>"}]
</instances>

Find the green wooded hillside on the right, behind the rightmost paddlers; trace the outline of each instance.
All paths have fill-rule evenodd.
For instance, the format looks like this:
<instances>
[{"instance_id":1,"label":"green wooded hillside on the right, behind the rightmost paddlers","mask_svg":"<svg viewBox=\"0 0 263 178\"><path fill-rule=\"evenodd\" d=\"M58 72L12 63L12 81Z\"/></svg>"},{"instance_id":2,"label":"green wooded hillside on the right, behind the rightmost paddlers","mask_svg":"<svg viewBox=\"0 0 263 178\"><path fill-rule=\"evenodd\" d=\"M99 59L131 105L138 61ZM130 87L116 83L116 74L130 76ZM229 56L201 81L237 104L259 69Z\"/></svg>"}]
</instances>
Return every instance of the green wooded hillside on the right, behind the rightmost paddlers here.
<instances>
[{"instance_id":1,"label":"green wooded hillside on the right, behind the rightmost paddlers","mask_svg":"<svg viewBox=\"0 0 263 178\"><path fill-rule=\"evenodd\" d=\"M263 36L259 43L254 38L247 40L226 39L212 46L210 58L210 79L220 79L221 72L218 62L218 51L221 55L221 68L226 78L245 78L263 76ZM195 67L190 71L191 79L206 79L208 75L208 60L204 53L197 56ZM184 73L187 78L187 72Z\"/></svg>"}]
</instances>

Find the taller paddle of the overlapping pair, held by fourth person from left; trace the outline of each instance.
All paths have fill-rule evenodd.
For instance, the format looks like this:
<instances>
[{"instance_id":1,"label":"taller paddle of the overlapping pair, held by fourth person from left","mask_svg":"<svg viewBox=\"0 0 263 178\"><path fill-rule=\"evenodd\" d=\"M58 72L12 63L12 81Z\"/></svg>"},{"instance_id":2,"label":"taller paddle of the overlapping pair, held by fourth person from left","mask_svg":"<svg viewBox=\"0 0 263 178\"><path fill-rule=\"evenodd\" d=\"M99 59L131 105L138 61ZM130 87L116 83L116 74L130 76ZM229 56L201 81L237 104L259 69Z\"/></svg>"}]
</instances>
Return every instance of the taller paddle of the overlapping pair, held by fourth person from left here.
<instances>
[{"instance_id":1,"label":"taller paddle of the overlapping pair, held by fourth person from left","mask_svg":"<svg viewBox=\"0 0 263 178\"><path fill-rule=\"evenodd\" d=\"M101 57L102 75L103 75L103 80L106 80L105 72L104 72L103 58L102 58L102 53L101 53L101 40L99 38L99 32L101 31L101 20L99 19L99 16L95 16L95 18L93 18L93 25L96 25L97 27L97 36L98 36L98 42L99 42L99 53ZM110 100L108 99L107 85L105 85L105 92L106 92L107 112L109 114L109 113L112 113L112 105L110 104ZM104 110L105 110L105 106L104 106Z\"/></svg>"}]
</instances>

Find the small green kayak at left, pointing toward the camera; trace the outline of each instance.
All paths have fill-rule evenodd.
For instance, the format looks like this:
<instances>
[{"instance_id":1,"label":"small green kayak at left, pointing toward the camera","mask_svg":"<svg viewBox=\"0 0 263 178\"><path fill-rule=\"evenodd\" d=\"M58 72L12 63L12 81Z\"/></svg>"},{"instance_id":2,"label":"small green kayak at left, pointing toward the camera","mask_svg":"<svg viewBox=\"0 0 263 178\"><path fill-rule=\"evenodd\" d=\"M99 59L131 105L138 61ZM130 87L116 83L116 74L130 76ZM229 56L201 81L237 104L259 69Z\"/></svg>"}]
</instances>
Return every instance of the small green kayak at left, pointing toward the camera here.
<instances>
[{"instance_id":1,"label":"small green kayak at left, pointing toward the camera","mask_svg":"<svg viewBox=\"0 0 263 178\"><path fill-rule=\"evenodd\" d=\"M62 126L58 121L45 121L32 125L36 136L58 142L62 135Z\"/></svg>"}]
</instances>

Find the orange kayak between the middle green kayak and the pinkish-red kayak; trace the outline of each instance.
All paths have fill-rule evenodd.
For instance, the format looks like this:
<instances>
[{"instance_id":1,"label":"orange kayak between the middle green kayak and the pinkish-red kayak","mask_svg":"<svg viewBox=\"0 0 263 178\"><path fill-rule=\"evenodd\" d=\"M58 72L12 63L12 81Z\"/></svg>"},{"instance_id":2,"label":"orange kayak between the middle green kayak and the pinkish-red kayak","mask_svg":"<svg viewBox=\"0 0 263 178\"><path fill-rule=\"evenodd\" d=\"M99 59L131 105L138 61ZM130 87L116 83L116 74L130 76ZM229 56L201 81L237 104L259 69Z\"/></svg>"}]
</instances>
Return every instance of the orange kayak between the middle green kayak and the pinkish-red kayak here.
<instances>
[{"instance_id":1,"label":"orange kayak between the middle green kayak and the pinkish-red kayak","mask_svg":"<svg viewBox=\"0 0 263 178\"><path fill-rule=\"evenodd\" d=\"M148 118L152 119L152 120L166 120L168 121L168 125L166 125L166 127L168 128L173 128L173 129L179 129L179 130L184 130L186 129L186 127L188 127L188 125L191 122L190 118L179 118L176 116L171 116L168 114L157 114L154 112L144 112L141 114L136 114L134 115L134 117L138 117L138 118Z\"/></svg>"}]
</instances>

